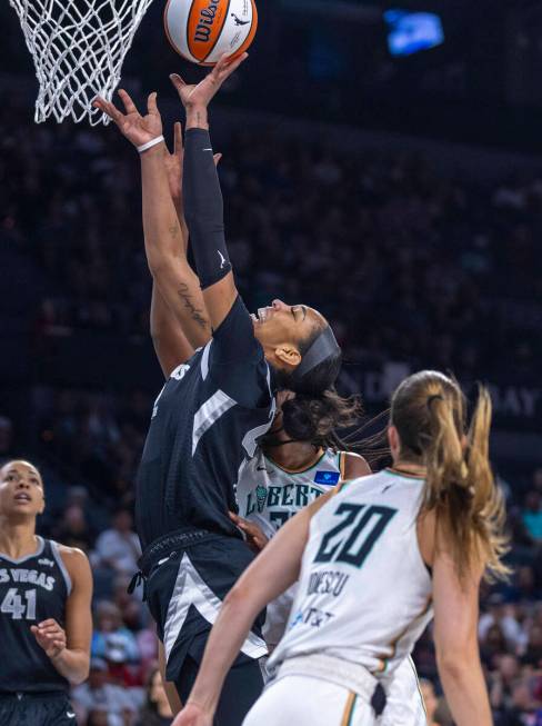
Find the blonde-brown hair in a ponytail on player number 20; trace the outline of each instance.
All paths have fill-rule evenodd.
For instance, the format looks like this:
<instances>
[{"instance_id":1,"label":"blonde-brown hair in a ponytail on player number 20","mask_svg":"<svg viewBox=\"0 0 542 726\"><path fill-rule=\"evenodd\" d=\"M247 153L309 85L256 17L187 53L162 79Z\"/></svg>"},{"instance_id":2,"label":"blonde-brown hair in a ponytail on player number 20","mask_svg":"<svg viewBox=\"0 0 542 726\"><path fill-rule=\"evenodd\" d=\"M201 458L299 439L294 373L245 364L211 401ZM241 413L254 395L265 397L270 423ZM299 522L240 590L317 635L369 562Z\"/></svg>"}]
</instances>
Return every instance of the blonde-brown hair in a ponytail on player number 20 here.
<instances>
[{"instance_id":1,"label":"blonde-brown hair in a ponytail on player number 20","mask_svg":"<svg viewBox=\"0 0 542 726\"><path fill-rule=\"evenodd\" d=\"M485 566L485 578L505 577L504 503L489 461L491 397L480 387L466 430L465 399L458 384L422 371L398 388L392 422L401 458L426 468L422 513L434 511L458 574Z\"/></svg>"}]
</instances>

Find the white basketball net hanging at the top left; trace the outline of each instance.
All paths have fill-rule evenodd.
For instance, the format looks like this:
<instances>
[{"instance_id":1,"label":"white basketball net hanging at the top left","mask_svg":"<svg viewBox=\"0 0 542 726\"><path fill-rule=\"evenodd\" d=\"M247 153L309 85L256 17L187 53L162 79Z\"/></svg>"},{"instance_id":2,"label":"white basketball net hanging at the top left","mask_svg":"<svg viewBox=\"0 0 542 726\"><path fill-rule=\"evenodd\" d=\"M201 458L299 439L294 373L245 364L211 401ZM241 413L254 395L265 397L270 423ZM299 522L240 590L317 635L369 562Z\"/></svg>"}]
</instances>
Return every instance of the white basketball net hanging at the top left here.
<instances>
[{"instance_id":1,"label":"white basketball net hanging at the top left","mask_svg":"<svg viewBox=\"0 0 542 726\"><path fill-rule=\"evenodd\" d=\"M92 108L111 100L122 63L152 0L10 0L40 83L34 119L109 119Z\"/></svg>"}]
</instances>

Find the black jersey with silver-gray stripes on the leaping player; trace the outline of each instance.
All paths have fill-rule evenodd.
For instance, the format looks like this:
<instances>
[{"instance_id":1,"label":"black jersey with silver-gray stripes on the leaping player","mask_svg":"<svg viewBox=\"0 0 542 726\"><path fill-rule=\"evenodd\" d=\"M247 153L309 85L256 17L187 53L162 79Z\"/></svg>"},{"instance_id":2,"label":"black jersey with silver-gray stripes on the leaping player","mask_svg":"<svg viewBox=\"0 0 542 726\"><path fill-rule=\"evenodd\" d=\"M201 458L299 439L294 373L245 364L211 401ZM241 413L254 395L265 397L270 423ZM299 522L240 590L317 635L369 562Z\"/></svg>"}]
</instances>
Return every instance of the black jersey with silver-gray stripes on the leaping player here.
<instances>
[{"instance_id":1,"label":"black jersey with silver-gray stripes on the leaping player","mask_svg":"<svg viewBox=\"0 0 542 726\"><path fill-rule=\"evenodd\" d=\"M241 537L228 516L235 485L275 411L271 370L240 297L212 340L158 396L137 484L144 549L185 527Z\"/></svg>"}]
</instances>

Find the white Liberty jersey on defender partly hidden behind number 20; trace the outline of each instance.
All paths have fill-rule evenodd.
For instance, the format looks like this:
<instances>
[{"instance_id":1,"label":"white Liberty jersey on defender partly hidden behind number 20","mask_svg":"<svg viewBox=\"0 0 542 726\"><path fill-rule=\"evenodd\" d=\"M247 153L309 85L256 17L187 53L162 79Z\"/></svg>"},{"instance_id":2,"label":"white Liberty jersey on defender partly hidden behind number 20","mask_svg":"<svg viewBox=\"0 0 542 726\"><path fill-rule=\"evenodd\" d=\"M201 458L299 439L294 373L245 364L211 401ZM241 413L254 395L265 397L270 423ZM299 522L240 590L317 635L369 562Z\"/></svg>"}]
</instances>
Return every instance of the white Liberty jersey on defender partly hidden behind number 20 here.
<instances>
[{"instance_id":1,"label":"white Liberty jersey on defender partly hidden behind number 20","mask_svg":"<svg viewBox=\"0 0 542 726\"><path fill-rule=\"evenodd\" d=\"M320 450L310 466L288 470L259 449L240 471L237 485L239 514L259 525L271 538L290 517L343 478L344 459L343 451ZM263 637L271 648L284 633L295 588L293 585L268 605Z\"/></svg>"}]
</instances>

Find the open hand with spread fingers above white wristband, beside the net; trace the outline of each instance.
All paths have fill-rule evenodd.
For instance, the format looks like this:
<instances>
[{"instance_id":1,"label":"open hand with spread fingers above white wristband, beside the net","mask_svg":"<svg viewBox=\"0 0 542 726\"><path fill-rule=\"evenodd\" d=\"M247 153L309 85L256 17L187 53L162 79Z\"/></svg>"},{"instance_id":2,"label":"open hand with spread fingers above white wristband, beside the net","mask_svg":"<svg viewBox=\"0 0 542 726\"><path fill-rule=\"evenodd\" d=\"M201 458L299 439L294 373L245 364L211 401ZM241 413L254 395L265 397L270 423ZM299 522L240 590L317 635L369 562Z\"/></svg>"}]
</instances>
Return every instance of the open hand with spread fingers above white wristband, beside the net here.
<instances>
[{"instance_id":1,"label":"open hand with spread fingers above white wristband, beside the net","mask_svg":"<svg viewBox=\"0 0 542 726\"><path fill-rule=\"evenodd\" d=\"M161 136L162 118L158 110L155 93L151 93L147 100L147 116L141 116L136 103L124 90L119 89L119 96L126 113L119 111L114 103L101 97L96 98L92 106L109 116L122 136L126 136L136 147Z\"/></svg>"}]
</instances>

